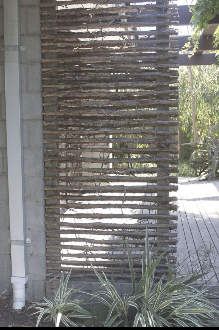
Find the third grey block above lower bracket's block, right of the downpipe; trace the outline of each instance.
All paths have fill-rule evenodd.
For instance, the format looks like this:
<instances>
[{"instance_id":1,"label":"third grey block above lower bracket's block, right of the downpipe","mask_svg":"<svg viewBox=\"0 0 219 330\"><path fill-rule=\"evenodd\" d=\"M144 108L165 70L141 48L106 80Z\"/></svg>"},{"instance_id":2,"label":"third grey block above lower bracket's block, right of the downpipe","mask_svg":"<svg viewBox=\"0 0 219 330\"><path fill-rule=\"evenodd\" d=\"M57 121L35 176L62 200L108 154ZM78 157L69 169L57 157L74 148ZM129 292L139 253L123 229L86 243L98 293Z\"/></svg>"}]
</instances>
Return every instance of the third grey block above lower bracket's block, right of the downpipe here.
<instances>
[{"instance_id":1,"label":"third grey block above lower bracket's block, right of the downpipe","mask_svg":"<svg viewBox=\"0 0 219 330\"><path fill-rule=\"evenodd\" d=\"M42 149L24 149L24 175L43 176Z\"/></svg>"}]
</instances>

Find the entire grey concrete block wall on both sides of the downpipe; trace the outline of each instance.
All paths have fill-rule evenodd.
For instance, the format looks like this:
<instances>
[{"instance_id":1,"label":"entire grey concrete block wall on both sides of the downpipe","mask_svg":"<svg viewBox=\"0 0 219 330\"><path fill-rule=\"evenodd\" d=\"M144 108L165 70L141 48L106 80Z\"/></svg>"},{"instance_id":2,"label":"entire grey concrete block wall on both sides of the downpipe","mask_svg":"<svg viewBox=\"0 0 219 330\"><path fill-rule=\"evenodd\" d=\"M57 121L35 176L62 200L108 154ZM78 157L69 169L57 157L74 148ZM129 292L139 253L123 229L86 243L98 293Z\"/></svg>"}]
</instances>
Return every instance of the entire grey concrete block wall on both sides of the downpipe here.
<instances>
[{"instance_id":1,"label":"entire grey concrete block wall on both sides of the downpipe","mask_svg":"<svg viewBox=\"0 0 219 330\"><path fill-rule=\"evenodd\" d=\"M4 34L3 1L0 0L0 36ZM44 181L41 106L41 40L40 0L20 0L21 82L23 116L23 158L25 185L25 214L27 238L28 283L27 300L41 300L45 280ZM0 38L0 46L4 41ZM7 145L4 94L4 53L0 53L0 229L4 231L4 248L0 248L0 267L4 268L5 287L11 289L10 237L7 184ZM4 267L5 266L5 267ZM1 273L2 278L2 273Z\"/></svg>"}]
</instances>

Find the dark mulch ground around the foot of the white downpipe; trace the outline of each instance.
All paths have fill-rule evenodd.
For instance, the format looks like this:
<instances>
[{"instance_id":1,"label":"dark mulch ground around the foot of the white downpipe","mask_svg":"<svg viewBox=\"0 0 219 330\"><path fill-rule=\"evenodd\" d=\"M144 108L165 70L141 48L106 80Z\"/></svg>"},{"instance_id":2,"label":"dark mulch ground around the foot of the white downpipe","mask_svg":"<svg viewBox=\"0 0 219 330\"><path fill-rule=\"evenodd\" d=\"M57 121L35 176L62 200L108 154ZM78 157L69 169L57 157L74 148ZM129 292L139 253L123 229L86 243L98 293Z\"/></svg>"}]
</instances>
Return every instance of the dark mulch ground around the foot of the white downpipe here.
<instances>
[{"instance_id":1,"label":"dark mulch ground around the foot of the white downpipe","mask_svg":"<svg viewBox=\"0 0 219 330\"><path fill-rule=\"evenodd\" d=\"M36 327L37 316L30 315L36 310L27 311L31 303L26 303L22 310L14 310L12 304L12 296L0 298L0 327ZM41 322L39 327L54 327L54 325Z\"/></svg>"}]
</instances>

